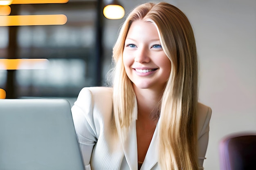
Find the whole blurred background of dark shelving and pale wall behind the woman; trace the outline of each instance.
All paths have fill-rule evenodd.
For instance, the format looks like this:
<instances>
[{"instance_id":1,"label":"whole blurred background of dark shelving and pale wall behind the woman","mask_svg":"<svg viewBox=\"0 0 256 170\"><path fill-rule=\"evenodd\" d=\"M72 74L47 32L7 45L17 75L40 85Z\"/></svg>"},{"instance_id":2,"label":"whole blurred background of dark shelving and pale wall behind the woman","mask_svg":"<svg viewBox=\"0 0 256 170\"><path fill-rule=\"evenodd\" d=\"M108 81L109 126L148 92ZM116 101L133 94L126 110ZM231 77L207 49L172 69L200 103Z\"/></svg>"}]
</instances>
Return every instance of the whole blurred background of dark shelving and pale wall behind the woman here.
<instances>
[{"instance_id":1,"label":"whole blurred background of dark shelving and pale wall behind the woman","mask_svg":"<svg viewBox=\"0 0 256 170\"><path fill-rule=\"evenodd\" d=\"M138 4L149 1L119 2L126 16ZM256 1L165 2L180 8L194 29L200 62L199 102L213 111L204 168L218 170L220 140L233 133L256 132ZM69 0L9 5L10 15L64 14L67 21L0 26L0 59L47 59L43 64L17 69L6 69L0 63L4 97L59 97L73 105L83 87L105 86L112 68L112 47L125 19L105 18L102 10L107 3Z\"/></svg>"}]
</instances>

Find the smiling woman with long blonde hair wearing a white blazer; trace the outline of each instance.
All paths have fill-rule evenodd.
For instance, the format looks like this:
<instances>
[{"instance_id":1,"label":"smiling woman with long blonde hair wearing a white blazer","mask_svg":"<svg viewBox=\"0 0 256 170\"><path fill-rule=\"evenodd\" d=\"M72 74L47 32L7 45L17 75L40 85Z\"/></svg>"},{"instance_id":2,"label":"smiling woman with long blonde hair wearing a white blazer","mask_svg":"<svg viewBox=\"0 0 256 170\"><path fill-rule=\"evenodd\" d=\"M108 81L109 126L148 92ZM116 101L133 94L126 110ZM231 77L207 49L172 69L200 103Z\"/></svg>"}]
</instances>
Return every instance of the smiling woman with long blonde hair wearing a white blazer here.
<instances>
[{"instance_id":1,"label":"smiling woman with long blonde hair wearing a white blazer","mask_svg":"<svg viewBox=\"0 0 256 170\"><path fill-rule=\"evenodd\" d=\"M113 88L83 88L72 107L87 169L203 170L211 108L198 103L193 30L171 4L145 3L113 48Z\"/></svg>"}]
</instances>

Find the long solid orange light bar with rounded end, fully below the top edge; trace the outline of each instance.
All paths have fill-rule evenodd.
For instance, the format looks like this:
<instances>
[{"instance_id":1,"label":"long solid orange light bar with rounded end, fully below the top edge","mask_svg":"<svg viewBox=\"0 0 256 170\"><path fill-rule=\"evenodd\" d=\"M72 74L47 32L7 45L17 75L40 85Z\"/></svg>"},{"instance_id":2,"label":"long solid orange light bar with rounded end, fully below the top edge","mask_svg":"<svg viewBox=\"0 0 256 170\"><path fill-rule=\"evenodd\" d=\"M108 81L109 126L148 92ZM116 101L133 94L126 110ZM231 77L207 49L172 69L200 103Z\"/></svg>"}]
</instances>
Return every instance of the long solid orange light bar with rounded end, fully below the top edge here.
<instances>
[{"instance_id":1,"label":"long solid orange light bar with rounded end, fully below the top edge","mask_svg":"<svg viewBox=\"0 0 256 170\"><path fill-rule=\"evenodd\" d=\"M63 25L67 16L59 15L9 15L0 16L0 26Z\"/></svg>"}]
</instances>

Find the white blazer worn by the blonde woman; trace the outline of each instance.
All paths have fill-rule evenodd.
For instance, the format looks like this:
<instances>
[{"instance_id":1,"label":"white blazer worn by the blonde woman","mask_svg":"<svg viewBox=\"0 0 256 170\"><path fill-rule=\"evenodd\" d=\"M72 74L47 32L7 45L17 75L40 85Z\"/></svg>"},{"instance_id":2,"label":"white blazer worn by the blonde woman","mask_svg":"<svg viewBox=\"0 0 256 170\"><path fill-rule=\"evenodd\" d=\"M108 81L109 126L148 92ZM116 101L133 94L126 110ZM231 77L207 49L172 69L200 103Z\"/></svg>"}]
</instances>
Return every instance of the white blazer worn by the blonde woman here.
<instances>
[{"instance_id":1,"label":"white blazer worn by the blonde woman","mask_svg":"<svg viewBox=\"0 0 256 170\"><path fill-rule=\"evenodd\" d=\"M112 120L112 88L83 88L72 106L72 116L78 137L85 170L137 170L136 119L137 104L132 113L132 123L123 146L115 143L110 135ZM198 159L199 169L203 161L209 139L211 108L198 104ZM159 123L159 122L158 122ZM141 170L159 170L157 164L156 126L153 138L141 166Z\"/></svg>"}]
</instances>

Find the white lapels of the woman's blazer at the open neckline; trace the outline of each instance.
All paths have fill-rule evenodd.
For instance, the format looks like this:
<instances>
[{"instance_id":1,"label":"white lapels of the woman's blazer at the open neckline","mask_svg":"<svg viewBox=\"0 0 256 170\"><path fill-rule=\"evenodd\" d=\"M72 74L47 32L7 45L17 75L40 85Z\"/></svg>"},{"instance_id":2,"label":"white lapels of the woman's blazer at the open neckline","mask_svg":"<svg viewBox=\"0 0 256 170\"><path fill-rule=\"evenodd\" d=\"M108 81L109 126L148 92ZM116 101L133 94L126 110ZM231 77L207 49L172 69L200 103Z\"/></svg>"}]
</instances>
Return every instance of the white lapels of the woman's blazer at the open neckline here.
<instances>
[{"instance_id":1,"label":"white lapels of the woman's blazer at the open neckline","mask_svg":"<svg viewBox=\"0 0 256 170\"><path fill-rule=\"evenodd\" d=\"M129 165L130 170L137 170L138 168L138 155L137 155L137 134L136 134L136 120L137 120L138 108L137 100L135 99L135 105L132 112L132 122L128 130L127 138L124 141L124 156ZM144 159L141 170L150 170L157 163L157 134L158 123L155 128L153 138L150 142L146 157Z\"/></svg>"}]
</instances>

